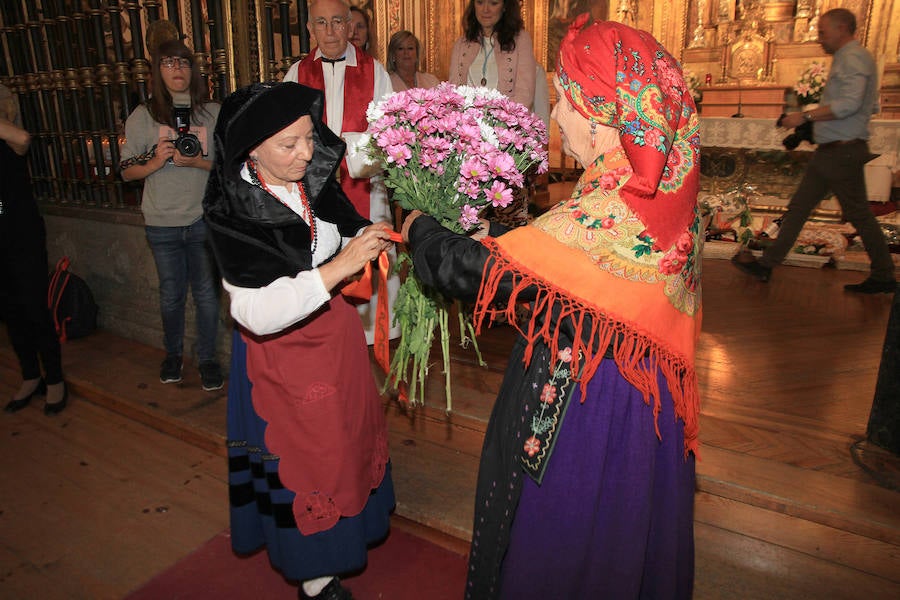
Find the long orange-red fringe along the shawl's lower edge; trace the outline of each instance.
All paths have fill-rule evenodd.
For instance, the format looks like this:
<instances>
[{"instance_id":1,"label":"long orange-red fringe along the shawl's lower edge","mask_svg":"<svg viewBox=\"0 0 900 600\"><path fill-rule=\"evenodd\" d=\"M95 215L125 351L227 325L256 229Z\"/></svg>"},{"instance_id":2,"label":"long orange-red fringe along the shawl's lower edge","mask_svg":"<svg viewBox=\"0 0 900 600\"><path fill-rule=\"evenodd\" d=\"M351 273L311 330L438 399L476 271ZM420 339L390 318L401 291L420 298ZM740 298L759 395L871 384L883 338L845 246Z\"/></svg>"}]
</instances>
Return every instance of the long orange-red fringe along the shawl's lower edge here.
<instances>
[{"instance_id":1,"label":"long orange-red fringe along the shawl's lower edge","mask_svg":"<svg viewBox=\"0 0 900 600\"><path fill-rule=\"evenodd\" d=\"M575 329L572 346L573 379L581 385L582 402L587 396L586 388L607 351L612 349L613 360L619 372L628 383L641 391L644 402L653 402L653 418L656 435L659 432L660 392L658 375L660 371L668 382L669 392L675 403L675 416L684 422L684 454L698 455L698 431L700 416L700 391L697 373L693 365L684 357L665 348L635 324L616 319L601 307L575 299L546 279L531 272L524 265L510 259L496 242L486 238L483 243L490 250L492 260L485 262L481 289L475 304L473 319L476 333L487 321L490 326L499 316L518 330L524 337L527 348L524 362L528 365L534 344L543 341L553 356L560 350L560 323L569 319ZM513 283L505 306L495 302L501 280L511 276ZM516 313L518 296L530 288L534 295L531 318L521 323ZM538 322L536 315L558 311L559 318Z\"/></svg>"}]
</instances>

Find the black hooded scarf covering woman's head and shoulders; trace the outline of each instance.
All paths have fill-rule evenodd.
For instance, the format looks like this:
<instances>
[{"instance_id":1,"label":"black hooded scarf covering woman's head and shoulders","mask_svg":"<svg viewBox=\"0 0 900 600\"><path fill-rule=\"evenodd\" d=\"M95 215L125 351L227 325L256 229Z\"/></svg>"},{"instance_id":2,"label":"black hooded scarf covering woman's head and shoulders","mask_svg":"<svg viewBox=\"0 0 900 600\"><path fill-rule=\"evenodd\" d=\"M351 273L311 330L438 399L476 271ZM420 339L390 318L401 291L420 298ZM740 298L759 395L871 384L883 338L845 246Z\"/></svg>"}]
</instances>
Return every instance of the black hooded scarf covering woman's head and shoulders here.
<instances>
[{"instance_id":1,"label":"black hooded scarf covering woman's head and shoulders","mask_svg":"<svg viewBox=\"0 0 900 600\"><path fill-rule=\"evenodd\" d=\"M262 287L312 268L310 229L303 218L241 177L250 151L301 117L309 115L313 122L313 156L300 182L313 212L348 237L369 223L335 179L346 145L323 123L323 106L322 92L292 82L255 83L222 103L203 210L229 283Z\"/></svg>"}]
</instances>

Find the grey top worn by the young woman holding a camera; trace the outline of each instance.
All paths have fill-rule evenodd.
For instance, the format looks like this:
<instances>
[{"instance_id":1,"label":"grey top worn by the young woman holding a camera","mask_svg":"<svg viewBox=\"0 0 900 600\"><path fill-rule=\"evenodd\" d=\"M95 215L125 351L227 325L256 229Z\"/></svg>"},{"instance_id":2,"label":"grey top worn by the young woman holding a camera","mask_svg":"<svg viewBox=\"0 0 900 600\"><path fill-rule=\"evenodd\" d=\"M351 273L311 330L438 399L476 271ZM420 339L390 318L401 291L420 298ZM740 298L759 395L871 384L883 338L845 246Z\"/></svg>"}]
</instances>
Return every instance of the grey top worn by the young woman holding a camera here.
<instances>
[{"instance_id":1,"label":"grey top worn by the young woman holding a camera","mask_svg":"<svg viewBox=\"0 0 900 600\"><path fill-rule=\"evenodd\" d=\"M191 133L197 136L203 158L213 160L213 130L219 117L220 105L204 104L205 110L191 114ZM125 145L122 160L150 151L161 137L175 139L175 130L157 123L144 105L138 106L125 122ZM193 167L176 167L169 162L144 180L141 211L144 223L156 227L185 227L203 216L203 192L209 171Z\"/></svg>"}]
</instances>

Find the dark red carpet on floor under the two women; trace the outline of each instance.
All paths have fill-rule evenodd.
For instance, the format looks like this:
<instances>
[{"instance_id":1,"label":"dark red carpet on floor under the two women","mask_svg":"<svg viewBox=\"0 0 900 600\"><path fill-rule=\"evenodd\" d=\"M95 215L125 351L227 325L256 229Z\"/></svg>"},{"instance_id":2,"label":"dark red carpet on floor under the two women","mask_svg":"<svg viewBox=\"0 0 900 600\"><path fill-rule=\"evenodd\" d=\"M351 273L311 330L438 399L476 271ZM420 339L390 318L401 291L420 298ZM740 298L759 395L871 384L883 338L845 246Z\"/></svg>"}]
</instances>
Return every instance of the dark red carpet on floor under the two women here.
<instances>
[{"instance_id":1,"label":"dark red carpet on floor under the two women","mask_svg":"<svg viewBox=\"0 0 900 600\"><path fill-rule=\"evenodd\" d=\"M465 587L466 557L396 527L369 551L369 564L344 585L356 600L458 600ZM289 600L297 587L269 565L265 550L249 557L231 551L220 533L128 596L128 600L215 598Z\"/></svg>"}]
</instances>

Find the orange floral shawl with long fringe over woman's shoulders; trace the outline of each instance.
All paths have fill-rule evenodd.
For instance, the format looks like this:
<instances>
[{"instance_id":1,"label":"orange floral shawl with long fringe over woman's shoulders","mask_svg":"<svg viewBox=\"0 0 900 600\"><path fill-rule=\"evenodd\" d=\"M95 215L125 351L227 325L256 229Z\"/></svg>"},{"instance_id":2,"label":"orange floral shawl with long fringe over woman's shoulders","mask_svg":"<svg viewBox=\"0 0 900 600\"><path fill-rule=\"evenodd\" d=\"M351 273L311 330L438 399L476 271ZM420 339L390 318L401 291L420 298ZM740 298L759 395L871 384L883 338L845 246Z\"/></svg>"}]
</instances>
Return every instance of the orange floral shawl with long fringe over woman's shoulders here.
<instances>
[{"instance_id":1,"label":"orange floral shawl with long fringe over woman's shoulders","mask_svg":"<svg viewBox=\"0 0 900 600\"><path fill-rule=\"evenodd\" d=\"M584 174L572 200L551 209L532 225L484 240L492 260L487 262L482 278L475 323L480 328L485 318L492 321L504 314L528 342L528 362L539 341L550 346L552 355L556 355L559 323L570 317L576 327L572 372L578 374L576 379L582 391L612 346L619 371L643 392L648 403L653 400L654 418L658 418L657 375L661 371L675 402L675 415L684 421L685 453L696 453L700 399L694 348L701 321L697 225L682 236L680 250L686 252L678 255L682 257L681 264L676 261L673 267L671 257L678 254L678 244L671 249L650 250L652 240L641 237L646 236L642 227L632 226L631 231L639 233L628 235L627 223L637 222L637 217L619 200L618 190L586 185L596 181L597 167L605 172L602 163L601 160ZM587 193L581 196L585 190ZM624 213L613 215L610 211L616 209ZM613 225L586 218L586 212L591 210L615 217ZM596 224L594 231L590 230L592 223ZM647 250L636 258L622 258L621 252L604 254L604 236L616 238L617 233L620 249L643 240L648 242ZM686 236L691 238L687 243ZM597 247L584 248L585 237L591 237ZM648 269L647 265L653 268ZM498 286L507 274L513 275L513 290L506 306L497 308ZM685 282L690 287L687 294ZM529 286L537 290L531 314L546 315L552 307L558 307L560 318L517 321L516 298ZM673 292L676 288L681 288L680 294ZM692 300L685 301L686 295ZM585 319L587 315L591 319ZM584 330L587 326L590 331Z\"/></svg>"}]
</instances>

